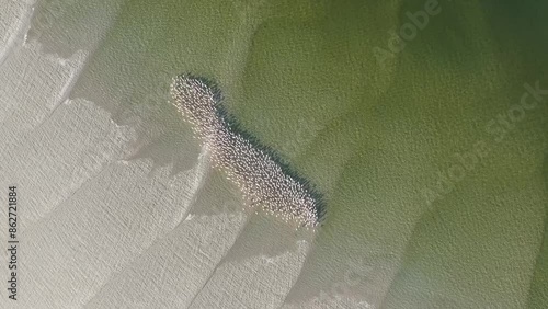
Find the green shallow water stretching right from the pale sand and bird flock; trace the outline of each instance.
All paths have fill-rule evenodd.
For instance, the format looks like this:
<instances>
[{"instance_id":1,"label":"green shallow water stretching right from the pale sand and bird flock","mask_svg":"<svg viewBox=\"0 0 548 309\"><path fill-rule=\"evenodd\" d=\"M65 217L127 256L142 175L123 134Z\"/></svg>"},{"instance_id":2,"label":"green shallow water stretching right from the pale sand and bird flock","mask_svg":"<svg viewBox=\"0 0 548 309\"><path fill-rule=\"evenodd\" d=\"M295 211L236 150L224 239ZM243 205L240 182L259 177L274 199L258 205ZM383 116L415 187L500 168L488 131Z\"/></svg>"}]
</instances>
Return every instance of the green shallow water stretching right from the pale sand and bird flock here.
<instances>
[{"instance_id":1,"label":"green shallow water stretching right from the pale sand and bird flock","mask_svg":"<svg viewBox=\"0 0 548 309\"><path fill-rule=\"evenodd\" d=\"M173 153L192 147L169 79L217 80L242 124L328 198L288 301L351 270L351 291L386 308L548 307L548 96L501 141L486 130L525 82L548 88L547 4L441 1L380 64L375 48L425 1L236 2L119 1L72 96L147 118L155 147L140 156L183 169ZM438 188L456 165L464 176Z\"/></svg>"}]
</instances>

